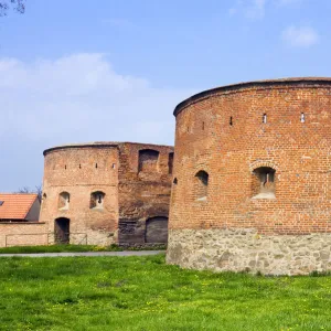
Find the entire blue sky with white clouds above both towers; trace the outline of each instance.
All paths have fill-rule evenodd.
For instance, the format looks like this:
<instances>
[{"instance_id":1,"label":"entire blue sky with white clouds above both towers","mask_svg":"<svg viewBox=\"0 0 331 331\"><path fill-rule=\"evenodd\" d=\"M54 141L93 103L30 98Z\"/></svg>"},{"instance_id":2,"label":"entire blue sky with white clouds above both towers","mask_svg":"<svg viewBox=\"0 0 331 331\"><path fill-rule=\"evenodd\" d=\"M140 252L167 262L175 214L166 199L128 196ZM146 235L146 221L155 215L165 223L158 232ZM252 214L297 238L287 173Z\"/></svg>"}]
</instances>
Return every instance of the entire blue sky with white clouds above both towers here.
<instances>
[{"instance_id":1,"label":"entire blue sky with white clouds above both towers","mask_svg":"<svg viewBox=\"0 0 331 331\"><path fill-rule=\"evenodd\" d=\"M45 148L172 145L173 108L252 79L331 76L328 0L28 0L0 18L0 192Z\"/></svg>"}]
</instances>

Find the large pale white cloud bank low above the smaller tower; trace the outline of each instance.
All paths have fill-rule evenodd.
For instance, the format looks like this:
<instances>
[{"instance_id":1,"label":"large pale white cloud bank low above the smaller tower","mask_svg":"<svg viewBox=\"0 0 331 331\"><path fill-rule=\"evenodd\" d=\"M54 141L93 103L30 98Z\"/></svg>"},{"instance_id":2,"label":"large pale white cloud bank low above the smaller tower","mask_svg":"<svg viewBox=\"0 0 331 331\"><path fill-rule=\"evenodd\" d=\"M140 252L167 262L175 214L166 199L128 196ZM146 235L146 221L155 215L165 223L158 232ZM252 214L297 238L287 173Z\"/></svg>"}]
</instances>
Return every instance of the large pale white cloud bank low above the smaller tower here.
<instances>
[{"instance_id":1,"label":"large pale white cloud bank low above the smaller tower","mask_svg":"<svg viewBox=\"0 0 331 331\"><path fill-rule=\"evenodd\" d=\"M2 58L0 75L0 140L17 132L18 139L45 147L94 140L173 143L172 110L193 93L120 75L103 54L31 64Z\"/></svg>"}]
</instances>

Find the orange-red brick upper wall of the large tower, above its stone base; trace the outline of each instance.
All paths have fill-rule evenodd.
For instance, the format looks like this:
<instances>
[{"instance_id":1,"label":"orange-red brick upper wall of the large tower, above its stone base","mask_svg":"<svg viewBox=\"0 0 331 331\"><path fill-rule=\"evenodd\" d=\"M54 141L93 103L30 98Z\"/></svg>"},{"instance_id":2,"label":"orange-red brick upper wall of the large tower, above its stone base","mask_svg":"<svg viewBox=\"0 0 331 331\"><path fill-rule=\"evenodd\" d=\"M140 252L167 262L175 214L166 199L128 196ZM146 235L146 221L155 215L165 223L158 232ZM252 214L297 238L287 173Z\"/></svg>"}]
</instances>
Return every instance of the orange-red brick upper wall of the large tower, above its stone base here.
<instances>
[{"instance_id":1,"label":"orange-red brick upper wall of the large tower, above its stone base","mask_svg":"<svg viewBox=\"0 0 331 331\"><path fill-rule=\"evenodd\" d=\"M328 79L241 84L179 105L170 228L331 232L330 110ZM258 167L276 170L276 199L252 199ZM194 197L200 170L206 201Z\"/></svg>"}]
</instances>

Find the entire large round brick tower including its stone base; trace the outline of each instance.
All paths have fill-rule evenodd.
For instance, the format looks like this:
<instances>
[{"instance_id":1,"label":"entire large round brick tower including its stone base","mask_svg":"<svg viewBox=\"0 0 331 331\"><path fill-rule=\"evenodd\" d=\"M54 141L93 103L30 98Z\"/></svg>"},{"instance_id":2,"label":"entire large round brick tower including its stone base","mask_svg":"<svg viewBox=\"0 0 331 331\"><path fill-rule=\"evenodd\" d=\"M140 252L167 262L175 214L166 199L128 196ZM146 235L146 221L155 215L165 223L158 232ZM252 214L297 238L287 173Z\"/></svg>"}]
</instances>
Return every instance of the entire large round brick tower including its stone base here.
<instances>
[{"instance_id":1,"label":"entire large round brick tower including its stone base","mask_svg":"<svg viewBox=\"0 0 331 331\"><path fill-rule=\"evenodd\" d=\"M168 263L331 269L331 78L218 87L174 116Z\"/></svg>"}]
</instances>

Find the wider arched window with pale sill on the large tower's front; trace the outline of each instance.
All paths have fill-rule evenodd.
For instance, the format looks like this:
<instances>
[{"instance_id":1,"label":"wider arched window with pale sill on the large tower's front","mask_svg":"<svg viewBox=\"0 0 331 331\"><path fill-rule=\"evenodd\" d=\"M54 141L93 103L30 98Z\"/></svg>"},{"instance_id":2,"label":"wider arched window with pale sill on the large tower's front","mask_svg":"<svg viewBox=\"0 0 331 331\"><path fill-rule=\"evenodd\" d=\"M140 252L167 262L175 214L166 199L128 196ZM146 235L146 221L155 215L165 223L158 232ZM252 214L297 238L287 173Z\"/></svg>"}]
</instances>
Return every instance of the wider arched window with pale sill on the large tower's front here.
<instances>
[{"instance_id":1,"label":"wider arched window with pale sill on the large tower's front","mask_svg":"<svg viewBox=\"0 0 331 331\"><path fill-rule=\"evenodd\" d=\"M253 197L275 199L276 170L269 167L260 167L253 171Z\"/></svg>"}]
</instances>

